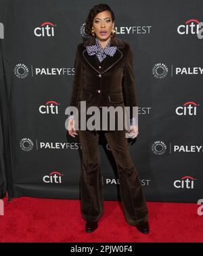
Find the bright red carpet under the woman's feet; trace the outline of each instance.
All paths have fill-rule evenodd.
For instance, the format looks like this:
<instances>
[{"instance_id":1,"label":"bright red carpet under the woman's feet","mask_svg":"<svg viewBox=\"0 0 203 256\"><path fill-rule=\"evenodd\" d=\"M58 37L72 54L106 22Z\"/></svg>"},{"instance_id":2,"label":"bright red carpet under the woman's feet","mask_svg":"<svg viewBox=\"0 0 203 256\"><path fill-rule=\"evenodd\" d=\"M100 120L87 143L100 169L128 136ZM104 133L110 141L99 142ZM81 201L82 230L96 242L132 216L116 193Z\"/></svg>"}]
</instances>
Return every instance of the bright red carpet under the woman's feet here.
<instances>
[{"instance_id":1,"label":"bright red carpet under the woman's feet","mask_svg":"<svg viewBox=\"0 0 203 256\"><path fill-rule=\"evenodd\" d=\"M148 202L150 234L125 221L118 202L105 201L92 234L85 232L79 200L4 198L0 242L203 242L197 204Z\"/></svg>"}]
</instances>

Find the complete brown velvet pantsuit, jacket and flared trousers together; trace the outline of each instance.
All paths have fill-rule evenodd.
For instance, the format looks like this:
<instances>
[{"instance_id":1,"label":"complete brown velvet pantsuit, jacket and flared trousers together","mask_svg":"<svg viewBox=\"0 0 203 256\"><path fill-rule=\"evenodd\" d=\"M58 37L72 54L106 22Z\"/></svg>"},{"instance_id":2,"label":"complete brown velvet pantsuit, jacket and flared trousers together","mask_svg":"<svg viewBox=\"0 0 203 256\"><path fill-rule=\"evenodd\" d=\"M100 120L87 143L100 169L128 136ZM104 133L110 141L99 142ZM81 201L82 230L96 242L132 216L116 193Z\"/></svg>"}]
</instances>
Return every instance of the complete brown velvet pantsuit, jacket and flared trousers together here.
<instances>
[{"instance_id":1,"label":"complete brown velvet pantsuit, jacket and flared trousers together","mask_svg":"<svg viewBox=\"0 0 203 256\"><path fill-rule=\"evenodd\" d=\"M110 130L109 126L104 129L102 126L104 120L101 120L103 111L101 107L110 106L120 106L122 109L130 107L130 115L126 120L133 117L132 108L137 107L133 51L129 43L112 37L110 45L118 47L116 53L114 56L107 55L102 62L99 62L95 55L89 56L86 45L95 45L95 38L88 39L77 47L70 100L70 106L78 107L79 111L76 130L78 130L83 153L80 180L81 213L86 221L98 221L104 213L103 186L98 159L99 132L104 132L117 165L125 217L130 225L137 225L148 221L148 207L125 136L125 112L123 110L123 115L116 115L114 130ZM81 129L80 116L85 115L87 120L91 117L86 114L86 109L81 109L81 101L85 101L86 107L96 106L101 109L99 129ZM117 129L119 119L123 121L121 130Z\"/></svg>"}]
</instances>

